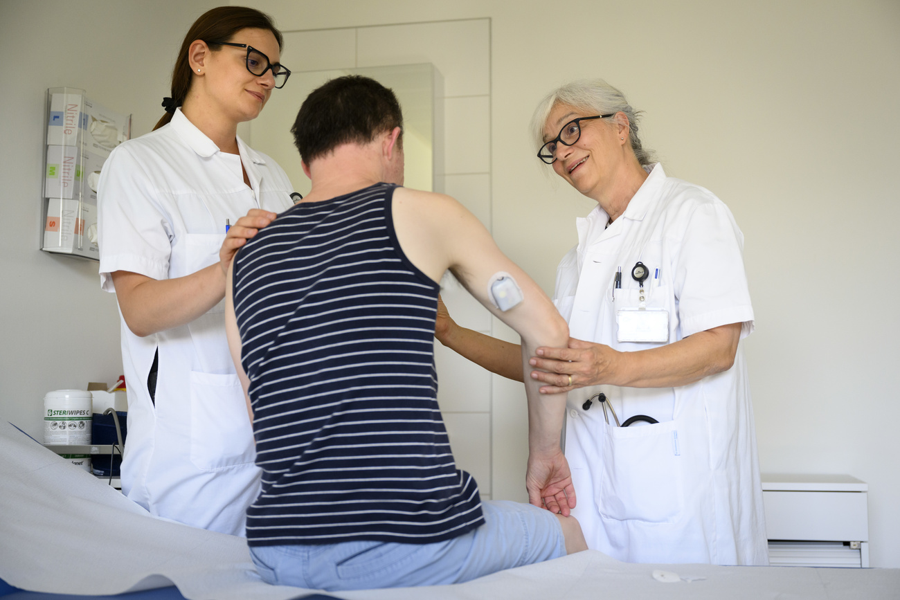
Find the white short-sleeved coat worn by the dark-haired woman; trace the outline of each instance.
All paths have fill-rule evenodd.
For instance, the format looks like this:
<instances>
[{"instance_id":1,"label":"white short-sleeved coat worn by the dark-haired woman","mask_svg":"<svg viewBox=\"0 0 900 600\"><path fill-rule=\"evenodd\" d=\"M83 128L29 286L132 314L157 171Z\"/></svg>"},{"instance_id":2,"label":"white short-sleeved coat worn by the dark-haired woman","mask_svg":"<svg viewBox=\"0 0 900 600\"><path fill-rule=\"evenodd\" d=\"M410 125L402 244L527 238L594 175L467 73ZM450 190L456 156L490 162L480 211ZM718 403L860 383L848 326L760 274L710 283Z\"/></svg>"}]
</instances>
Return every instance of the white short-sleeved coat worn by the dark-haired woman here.
<instances>
[{"instance_id":1,"label":"white short-sleeved coat worn by the dark-haired woman","mask_svg":"<svg viewBox=\"0 0 900 600\"><path fill-rule=\"evenodd\" d=\"M98 195L103 290L114 291L115 271L164 280L216 264L226 219L290 208L281 167L241 139L238 148L239 157L221 152L179 109L165 127L112 151ZM154 405L147 380L157 348ZM259 470L224 300L192 323L146 337L121 319L121 352L129 406L122 491L153 515L243 535Z\"/></svg>"}]
</instances>

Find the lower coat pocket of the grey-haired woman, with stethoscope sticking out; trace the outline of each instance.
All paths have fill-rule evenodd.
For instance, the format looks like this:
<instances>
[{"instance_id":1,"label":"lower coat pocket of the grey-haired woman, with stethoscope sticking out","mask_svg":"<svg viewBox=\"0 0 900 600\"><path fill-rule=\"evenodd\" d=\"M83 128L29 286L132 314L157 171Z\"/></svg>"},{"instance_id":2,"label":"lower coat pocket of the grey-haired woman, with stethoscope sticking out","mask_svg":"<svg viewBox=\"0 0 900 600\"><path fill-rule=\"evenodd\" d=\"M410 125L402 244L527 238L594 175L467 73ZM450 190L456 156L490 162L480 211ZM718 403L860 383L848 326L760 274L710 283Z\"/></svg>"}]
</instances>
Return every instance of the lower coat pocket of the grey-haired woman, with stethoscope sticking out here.
<instances>
[{"instance_id":1,"label":"lower coat pocket of the grey-haired woman, with stethoscope sticking out","mask_svg":"<svg viewBox=\"0 0 900 600\"><path fill-rule=\"evenodd\" d=\"M602 517L672 523L684 504L678 421L603 429L597 484Z\"/></svg>"}]
</instances>

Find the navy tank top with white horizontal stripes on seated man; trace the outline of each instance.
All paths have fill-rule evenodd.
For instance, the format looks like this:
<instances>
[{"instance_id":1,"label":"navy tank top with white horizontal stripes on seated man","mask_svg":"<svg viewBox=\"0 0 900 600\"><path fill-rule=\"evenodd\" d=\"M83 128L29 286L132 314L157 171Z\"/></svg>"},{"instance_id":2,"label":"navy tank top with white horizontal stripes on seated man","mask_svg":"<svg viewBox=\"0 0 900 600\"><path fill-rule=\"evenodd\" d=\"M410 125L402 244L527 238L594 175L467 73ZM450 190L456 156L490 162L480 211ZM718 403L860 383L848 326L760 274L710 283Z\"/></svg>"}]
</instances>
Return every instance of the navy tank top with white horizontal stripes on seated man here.
<instances>
[{"instance_id":1,"label":"navy tank top with white horizontal stripes on seated man","mask_svg":"<svg viewBox=\"0 0 900 600\"><path fill-rule=\"evenodd\" d=\"M437 407L437 283L395 186L300 203L238 252L234 300L262 491L250 545L429 543L483 523Z\"/></svg>"}]
</instances>

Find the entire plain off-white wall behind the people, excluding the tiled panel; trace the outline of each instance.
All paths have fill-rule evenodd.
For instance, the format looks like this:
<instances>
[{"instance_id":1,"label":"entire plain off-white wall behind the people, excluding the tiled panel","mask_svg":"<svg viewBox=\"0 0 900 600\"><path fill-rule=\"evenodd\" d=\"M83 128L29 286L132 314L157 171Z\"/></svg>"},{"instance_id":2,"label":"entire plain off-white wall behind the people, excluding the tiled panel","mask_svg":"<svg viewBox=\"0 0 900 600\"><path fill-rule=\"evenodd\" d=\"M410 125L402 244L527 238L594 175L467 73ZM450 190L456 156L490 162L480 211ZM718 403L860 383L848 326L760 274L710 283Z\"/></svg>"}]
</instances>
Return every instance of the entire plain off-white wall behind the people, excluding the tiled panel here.
<instances>
[{"instance_id":1,"label":"entire plain off-white wall behind the people, excluding the tiled panel","mask_svg":"<svg viewBox=\"0 0 900 600\"><path fill-rule=\"evenodd\" d=\"M574 77L621 87L646 112L644 141L669 173L718 194L743 228L763 470L868 481L871 564L900 567L900 203L892 176L900 162L900 4L246 4L273 13L286 31L490 18L491 139L483 143L491 145L492 230L548 292L574 243L572 220L590 201L542 175L527 121L543 94ZM114 301L99 291L95 264L37 249L44 90L85 87L133 112L137 134L148 131L175 47L211 5L0 0L0 416L32 434L40 434L47 390L121 372ZM95 32L67 44L70 31L94 22ZM499 388L495 403L511 403ZM520 443L509 439L510 448ZM520 452L507 459L524 464Z\"/></svg>"}]
</instances>

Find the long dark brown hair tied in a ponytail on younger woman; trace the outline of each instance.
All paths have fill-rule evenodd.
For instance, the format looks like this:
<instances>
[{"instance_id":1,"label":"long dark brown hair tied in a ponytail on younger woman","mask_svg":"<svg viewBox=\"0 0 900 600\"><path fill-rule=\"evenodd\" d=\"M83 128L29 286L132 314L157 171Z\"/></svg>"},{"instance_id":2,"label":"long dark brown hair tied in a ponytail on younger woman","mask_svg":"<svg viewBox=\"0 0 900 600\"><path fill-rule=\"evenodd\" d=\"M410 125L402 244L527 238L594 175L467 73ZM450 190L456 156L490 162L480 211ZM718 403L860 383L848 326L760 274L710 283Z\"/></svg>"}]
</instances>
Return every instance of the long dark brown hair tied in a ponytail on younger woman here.
<instances>
[{"instance_id":1,"label":"long dark brown hair tied in a ponytail on younger woman","mask_svg":"<svg viewBox=\"0 0 900 600\"><path fill-rule=\"evenodd\" d=\"M220 49L220 45L211 44L210 41L230 41L234 35L242 29L265 29L272 31L275 40L278 41L278 49L284 44L281 31L275 29L275 23L266 13L255 8L245 6L219 6L203 13L199 19L193 22L191 29L184 36L178 58L175 60L175 68L172 70L172 97L163 100L166 114L157 122L154 130L158 130L172 120L175 108L184 103L188 90L191 89L193 73L191 63L188 61L187 52L194 40L203 40L210 49Z\"/></svg>"}]
</instances>

